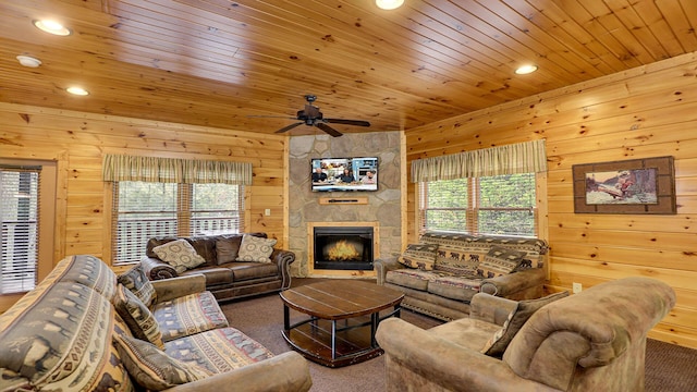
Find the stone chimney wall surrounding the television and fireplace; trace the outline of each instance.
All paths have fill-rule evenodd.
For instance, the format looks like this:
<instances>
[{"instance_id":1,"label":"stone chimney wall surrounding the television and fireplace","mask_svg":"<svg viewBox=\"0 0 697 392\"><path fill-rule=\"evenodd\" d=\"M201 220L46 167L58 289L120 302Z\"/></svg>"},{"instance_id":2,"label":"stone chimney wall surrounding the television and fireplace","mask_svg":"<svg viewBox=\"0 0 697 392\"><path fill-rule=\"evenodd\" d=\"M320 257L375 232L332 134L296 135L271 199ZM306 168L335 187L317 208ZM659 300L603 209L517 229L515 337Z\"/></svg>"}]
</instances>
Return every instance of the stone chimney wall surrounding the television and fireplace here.
<instances>
[{"instance_id":1,"label":"stone chimney wall surrounding the television and fireplace","mask_svg":"<svg viewBox=\"0 0 697 392\"><path fill-rule=\"evenodd\" d=\"M315 270L313 225L332 226L374 225L374 260L402 252L406 203L402 187L406 173L402 171L401 151L404 135L399 132L346 133L331 137L316 135L292 136L289 144L289 250L295 253L291 273L297 278L374 278L374 270ZM318 157L378 157L380 174L377 192L311 191L310 160ZM405 189L404 189L405 191ZM330 199L359 199L360 203L323 203ZM358 224L354 224L354 223ZM378 223L379 222L379 223ZM360 224L363 223L363 224Z\"/></svg>"}]
</instances>

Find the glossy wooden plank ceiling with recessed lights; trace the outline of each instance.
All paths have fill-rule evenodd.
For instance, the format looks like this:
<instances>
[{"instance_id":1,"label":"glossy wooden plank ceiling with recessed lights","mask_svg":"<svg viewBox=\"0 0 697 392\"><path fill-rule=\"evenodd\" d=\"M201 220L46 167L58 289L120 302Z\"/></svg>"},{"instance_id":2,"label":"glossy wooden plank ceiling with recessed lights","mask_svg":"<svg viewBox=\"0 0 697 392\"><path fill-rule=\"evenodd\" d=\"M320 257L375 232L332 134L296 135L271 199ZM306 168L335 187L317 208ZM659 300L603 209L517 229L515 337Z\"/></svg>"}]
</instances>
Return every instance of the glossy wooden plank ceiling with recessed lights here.
<instances>
[{"instance_id":1,"label":"glossy wooden plank ceiling with recessed lights","mask_svg":"<svg viewBox=\"0 0 697 392\"><path fill-rule=\"evenodd\" d=\"M697 51L695 0L3 0L0 26L0 101L261 133L306 94L372 124L341 132L408 130Z\"/></svg>"}]
</instances>

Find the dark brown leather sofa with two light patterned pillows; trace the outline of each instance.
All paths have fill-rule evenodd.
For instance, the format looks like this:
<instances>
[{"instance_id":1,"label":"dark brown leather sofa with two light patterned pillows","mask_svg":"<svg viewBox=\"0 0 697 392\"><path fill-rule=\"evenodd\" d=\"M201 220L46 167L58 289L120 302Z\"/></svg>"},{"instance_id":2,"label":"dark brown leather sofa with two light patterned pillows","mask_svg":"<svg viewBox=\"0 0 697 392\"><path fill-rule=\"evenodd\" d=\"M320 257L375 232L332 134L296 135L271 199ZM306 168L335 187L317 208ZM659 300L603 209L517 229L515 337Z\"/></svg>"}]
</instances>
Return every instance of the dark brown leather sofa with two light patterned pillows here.
<instances>
[{"instance_id":1,"label":"dark brown leather sofa with two light patterned pillows","mask_svg":"<svg viewBox=\"0 0 697 392\"><path fill-rule=\"evenodd\" d=\"M259 238L267 237L266 233L247 234ZM150 238L146 246L146 256L140 264L150 280L204 274L206 290L218 301L272 293L290 287L290 265L295 260L295 254L274 248L269 256L269 262L236 261L243 237L244 234L221 234ZM204 264L179 273L171 265L162 261L154 248L182 238L204 258Z\"/></svg>"}]
</instances>

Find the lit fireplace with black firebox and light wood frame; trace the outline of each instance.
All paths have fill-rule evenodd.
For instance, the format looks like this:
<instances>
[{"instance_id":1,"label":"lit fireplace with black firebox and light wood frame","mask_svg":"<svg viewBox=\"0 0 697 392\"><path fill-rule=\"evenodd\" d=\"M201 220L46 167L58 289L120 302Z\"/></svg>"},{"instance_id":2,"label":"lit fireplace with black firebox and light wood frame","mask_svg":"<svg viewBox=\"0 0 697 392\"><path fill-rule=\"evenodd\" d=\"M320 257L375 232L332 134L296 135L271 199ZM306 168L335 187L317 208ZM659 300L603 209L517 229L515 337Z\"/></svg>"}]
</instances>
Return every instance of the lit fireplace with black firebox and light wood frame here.
<instances>
[{"instance_id":1,"label":"lit fireplace with black firebox and light wood frame","mask_svg":"<svg viewBox=\"0 0 697 392\"><path fill-rule=\"evenodd\" d=\"M378 257L376 222L310 222L308 226L309 272L330 275L375 274Z\"/></svg>"}]
</instances>

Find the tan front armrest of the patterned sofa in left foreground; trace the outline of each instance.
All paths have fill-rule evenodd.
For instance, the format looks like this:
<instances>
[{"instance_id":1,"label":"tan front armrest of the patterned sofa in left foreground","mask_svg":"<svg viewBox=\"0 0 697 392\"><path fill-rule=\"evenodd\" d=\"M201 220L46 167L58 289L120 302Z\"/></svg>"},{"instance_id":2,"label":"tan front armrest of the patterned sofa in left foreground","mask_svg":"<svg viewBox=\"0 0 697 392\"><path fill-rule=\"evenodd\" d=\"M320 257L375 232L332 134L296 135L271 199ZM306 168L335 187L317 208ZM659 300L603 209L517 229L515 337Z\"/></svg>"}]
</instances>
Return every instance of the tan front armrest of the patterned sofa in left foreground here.
<instances>
[{"instance_id":1,"label":"tan front armrest of the patterned sofa in left foreground","mask_svg":"<svg viewBox=\"0 0 697 392\"><path fill-rule=\"evenodd\" d=\"M313 385L307 360L286 352L242 368L170 388L171 392L303 392Z\"/></svg>"}]
</instances>

